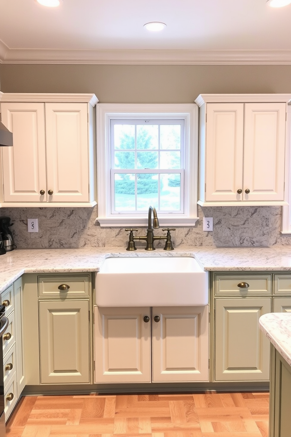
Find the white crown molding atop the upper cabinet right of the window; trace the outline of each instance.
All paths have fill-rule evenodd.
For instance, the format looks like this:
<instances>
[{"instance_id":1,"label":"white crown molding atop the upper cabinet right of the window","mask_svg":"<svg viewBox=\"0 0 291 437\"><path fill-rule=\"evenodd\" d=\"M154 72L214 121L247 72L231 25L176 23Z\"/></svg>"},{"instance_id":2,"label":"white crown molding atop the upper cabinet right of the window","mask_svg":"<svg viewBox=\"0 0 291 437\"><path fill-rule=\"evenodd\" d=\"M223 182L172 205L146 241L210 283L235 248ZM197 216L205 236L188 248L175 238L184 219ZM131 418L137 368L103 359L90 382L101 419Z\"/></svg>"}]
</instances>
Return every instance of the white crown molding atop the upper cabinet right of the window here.
<instances>
[{"instance_id":1,"label":"white crown molding atop the upper cabinet right of the window","mask_svg":"<svg viewBox=\"0 0 291 437\"><path fill-rule=\"evenodd\" d=\"M204 103L226 103L226 102L289 102L291 94L199 94L195 103L199 108Z\"/></svg>"}]
</instances>

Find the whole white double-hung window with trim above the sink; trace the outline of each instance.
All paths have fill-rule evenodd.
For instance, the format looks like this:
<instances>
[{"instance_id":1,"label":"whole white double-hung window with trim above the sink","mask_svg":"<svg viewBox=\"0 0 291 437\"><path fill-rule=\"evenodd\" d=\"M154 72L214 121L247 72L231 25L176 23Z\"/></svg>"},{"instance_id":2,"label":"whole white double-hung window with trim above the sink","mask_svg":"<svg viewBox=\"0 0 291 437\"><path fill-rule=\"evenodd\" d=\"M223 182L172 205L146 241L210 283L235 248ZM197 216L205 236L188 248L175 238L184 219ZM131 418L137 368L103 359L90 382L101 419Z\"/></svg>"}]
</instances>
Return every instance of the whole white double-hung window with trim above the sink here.
<instances>
[{"instance_id":1,"label":"whole white double-hung window with trim above the sink","mask_svg":"<svg viewBox=\"0 0 291 437\"><path fill-rule=\"evenodd\" d=\"M97 105L98 221L161 225L197 219L197 107Z\"/></svg>"}]
</instances>

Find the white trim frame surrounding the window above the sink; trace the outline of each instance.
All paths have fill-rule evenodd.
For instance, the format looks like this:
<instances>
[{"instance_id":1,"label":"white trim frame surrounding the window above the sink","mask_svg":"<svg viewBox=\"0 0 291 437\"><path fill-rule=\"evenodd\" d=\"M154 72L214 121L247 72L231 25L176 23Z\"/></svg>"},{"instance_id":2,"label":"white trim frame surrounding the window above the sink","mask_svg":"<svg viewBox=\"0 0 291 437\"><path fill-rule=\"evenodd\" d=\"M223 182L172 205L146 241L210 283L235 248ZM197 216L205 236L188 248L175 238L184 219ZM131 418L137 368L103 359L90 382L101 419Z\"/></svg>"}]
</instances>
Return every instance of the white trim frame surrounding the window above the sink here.
<instances>
[{"instance_id":1,"label":"white trim frame surrounding the window above the sink","mask_svg":"<svg viewBox=\"0 0 291 437\"><path fill-rule=\"evenodd\" d=\"M97 203L100 226L147 226L147 214L111 215L110 198L110 118L138 118L151 114L157 118L185 117L185 213L184 215L160 213L160 226L193 226L197 217L198 193L198 106L196 104L97 104ZM186 156L185 156L186 158ZM150 206L150 205L149 205ZM155 205L152 205L155 206Z\"/></svg>"}]
</instances>

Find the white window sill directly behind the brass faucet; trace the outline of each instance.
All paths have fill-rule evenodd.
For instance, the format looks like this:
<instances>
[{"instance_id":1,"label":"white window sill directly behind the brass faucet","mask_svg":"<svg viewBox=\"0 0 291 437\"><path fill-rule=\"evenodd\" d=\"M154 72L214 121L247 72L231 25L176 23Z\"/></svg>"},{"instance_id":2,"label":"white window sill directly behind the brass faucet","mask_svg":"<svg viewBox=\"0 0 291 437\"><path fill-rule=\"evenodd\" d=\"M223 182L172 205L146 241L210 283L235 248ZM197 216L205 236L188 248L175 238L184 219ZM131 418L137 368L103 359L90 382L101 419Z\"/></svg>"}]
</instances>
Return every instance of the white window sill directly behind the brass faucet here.
<instances>
[{"instance_id":1,"label":"white window sill directly behind the brass faucet","mask_svg":"<svg viewBox=\"0 0 291 437\"><path fill-rule=\"evenodd\" d=\"M158 217L160 228L165 226L194 226L199 217ZM147 217L97 217L101 227L142 227L147 228Z\"/></svg>"}]
</instances>

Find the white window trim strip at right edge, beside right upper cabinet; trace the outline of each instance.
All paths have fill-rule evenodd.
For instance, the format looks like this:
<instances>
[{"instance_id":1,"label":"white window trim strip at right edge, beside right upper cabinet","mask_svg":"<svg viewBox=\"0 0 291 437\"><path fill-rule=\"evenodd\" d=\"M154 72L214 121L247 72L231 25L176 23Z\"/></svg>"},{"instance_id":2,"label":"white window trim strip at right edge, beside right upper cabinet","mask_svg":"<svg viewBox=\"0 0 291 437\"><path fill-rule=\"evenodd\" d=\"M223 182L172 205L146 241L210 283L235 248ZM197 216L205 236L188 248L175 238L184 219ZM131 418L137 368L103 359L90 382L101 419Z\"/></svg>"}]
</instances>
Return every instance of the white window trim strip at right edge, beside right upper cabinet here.
<instances>
[{"instance_id":1,"label":"white window trim strip at right edge, beside right upper cabinet","mask_svg":"<svg viewBox=\"0 0 291 437\"><path fill-rule=\"evenodd\" d=\"M291 234L291 106L287 107L286 122L285 193L288 205L282 206L281 234Z\"/></svg>"}]
</instances>

